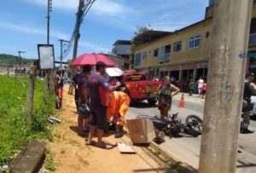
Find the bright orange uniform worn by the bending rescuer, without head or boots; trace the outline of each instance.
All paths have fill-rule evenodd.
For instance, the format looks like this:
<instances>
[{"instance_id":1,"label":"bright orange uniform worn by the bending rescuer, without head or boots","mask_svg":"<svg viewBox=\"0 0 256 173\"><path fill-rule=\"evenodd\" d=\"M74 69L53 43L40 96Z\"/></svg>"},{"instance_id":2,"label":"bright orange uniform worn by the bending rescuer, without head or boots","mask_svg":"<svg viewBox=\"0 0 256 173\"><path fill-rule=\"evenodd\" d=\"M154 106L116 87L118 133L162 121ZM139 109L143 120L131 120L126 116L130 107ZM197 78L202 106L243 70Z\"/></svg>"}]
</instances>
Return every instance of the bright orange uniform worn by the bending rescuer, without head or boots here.
<instances>
[{"instance_id":1,"label":"bright orange uniform worn by the bending rescuer, without head or boots","mask_svg":"<svg viewBox=\"0 0 256 173\"><path fill-rule=\"evenodd\" d=\"M130 101L129 95L124 92L109 92L107 118L112 120L114 124L124 126L125 114L128 111Z\"/></svg>"}]
</instances>

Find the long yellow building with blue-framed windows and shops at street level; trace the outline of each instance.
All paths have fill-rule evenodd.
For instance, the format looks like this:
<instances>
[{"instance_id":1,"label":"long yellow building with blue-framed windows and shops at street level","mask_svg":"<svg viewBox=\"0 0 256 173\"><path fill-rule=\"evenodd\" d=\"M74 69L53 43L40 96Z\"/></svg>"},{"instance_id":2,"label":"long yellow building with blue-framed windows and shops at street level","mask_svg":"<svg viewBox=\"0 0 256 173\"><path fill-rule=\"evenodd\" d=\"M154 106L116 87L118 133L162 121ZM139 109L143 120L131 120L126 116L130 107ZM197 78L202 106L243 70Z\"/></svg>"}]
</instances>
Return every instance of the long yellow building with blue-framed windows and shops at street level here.
<instances>
[{"instance_id":1,"label":"long yellow building with blue-framed windows and shops at street level","mask_svg":"<svg viewBox=\"0 0 256 173\"><path fill-rule=\"evenodd\" d=\"M147 72L149 79L162 78L165 75L178 81L207 78L207 61L212 40L212 11L211 5L207 7L205 20L178 31L148 31L135 37L134 68ZM248 52L256 52L255 1ZM256 61L248 59L247 67L256 72Z\"/></svg>"}]
</instances>

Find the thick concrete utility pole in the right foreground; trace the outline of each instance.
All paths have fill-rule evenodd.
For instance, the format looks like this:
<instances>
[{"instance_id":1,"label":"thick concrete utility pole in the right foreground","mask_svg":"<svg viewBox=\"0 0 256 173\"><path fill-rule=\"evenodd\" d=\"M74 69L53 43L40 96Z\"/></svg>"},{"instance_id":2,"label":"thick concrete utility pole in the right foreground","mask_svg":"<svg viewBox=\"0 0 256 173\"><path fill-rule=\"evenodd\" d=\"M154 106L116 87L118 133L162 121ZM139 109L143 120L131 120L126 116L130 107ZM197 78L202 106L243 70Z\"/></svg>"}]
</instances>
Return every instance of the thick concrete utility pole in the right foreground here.
<instances>
[{"instance_id":1,"label":"thick concrete utility pole in the right foreground","mask_svg":"<svg viewBox=\"0 0 256 173\"><path fill-rule=\"evenodd\" d=\"M200 173L235 173L253 0L216 0Z\"/></svg>"}]
</instances>

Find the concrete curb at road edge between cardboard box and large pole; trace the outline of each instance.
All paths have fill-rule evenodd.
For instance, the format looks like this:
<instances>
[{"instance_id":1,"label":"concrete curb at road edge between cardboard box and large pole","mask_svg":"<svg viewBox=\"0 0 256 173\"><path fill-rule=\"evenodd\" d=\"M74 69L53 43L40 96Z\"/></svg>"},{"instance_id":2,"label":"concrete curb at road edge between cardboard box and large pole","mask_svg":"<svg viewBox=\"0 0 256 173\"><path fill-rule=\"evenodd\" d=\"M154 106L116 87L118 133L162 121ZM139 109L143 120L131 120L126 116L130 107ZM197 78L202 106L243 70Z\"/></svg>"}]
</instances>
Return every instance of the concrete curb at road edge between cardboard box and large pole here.
<instances>
[{"instance_id":1,"label":"concrete curb at road edge between cardboard box and large pole","mask_svg":"<svg viewBox=\"0 0 256 173\"><path fill-rule=\"evenodd\" d=\"M173 170L177 170L177 172L184 172L184 173L196 173L198 172L197 169L193 168L189 164L183 163L180 159L177 159L174 155L167 152L164 147L160 147L154 141L150 141L149 147L154 149L154 153L158 153L158 157L162 157L166 160L168 164L171 165Z\"/></svg>"}]
</instances>

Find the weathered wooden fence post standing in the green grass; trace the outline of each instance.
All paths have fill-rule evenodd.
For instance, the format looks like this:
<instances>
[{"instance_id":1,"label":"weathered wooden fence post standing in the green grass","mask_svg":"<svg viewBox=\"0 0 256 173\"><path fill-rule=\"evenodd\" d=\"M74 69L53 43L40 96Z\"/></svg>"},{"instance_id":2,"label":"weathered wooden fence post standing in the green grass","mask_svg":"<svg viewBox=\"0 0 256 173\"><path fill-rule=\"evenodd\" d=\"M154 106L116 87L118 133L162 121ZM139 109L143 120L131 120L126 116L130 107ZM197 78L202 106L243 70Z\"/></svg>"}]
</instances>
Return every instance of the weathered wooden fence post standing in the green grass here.
<instances>
[{"instance_id":1,"label":"weathered wooden fence post standing in the green grass","mask_svg":"<svg viewBox=\"0 0 256 173\"><path fill-rule=\"evenodd\" d=\"M35 77L37 74L37 66L30 66L29 74L29 89L27 91L27 113L26 118L28 121L31 121L32 118L32 107L34 99L34 89L35 89Z\"/></svg>"}]
</instances>

